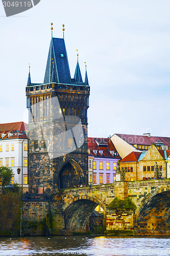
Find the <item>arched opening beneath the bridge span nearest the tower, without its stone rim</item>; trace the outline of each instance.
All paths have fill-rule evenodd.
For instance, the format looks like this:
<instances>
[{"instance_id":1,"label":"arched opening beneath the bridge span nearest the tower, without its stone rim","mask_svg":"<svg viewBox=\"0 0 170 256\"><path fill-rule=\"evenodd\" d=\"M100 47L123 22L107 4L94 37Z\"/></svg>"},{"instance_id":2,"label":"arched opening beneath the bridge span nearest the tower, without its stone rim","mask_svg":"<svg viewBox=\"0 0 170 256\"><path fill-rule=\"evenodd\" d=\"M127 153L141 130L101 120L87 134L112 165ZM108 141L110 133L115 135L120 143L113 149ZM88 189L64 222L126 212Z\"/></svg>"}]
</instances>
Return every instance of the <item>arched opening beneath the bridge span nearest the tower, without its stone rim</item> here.
<instances>
[{"instance_id":1,"label":"arched opening beneath the bridge span nearest the tower, without its stone rim","mask_svg":"<svg viewBox=\"0 0 170 256\"><path fill-rule=\"evenodd\" d=\"M72 202L64 210L65 230L71 233L86 233L91 231L94 233L103 233L103 215L94 211L99 203L80 199ZM91 218L91 221L90 221Z\"/></svg>"}]
</instances>

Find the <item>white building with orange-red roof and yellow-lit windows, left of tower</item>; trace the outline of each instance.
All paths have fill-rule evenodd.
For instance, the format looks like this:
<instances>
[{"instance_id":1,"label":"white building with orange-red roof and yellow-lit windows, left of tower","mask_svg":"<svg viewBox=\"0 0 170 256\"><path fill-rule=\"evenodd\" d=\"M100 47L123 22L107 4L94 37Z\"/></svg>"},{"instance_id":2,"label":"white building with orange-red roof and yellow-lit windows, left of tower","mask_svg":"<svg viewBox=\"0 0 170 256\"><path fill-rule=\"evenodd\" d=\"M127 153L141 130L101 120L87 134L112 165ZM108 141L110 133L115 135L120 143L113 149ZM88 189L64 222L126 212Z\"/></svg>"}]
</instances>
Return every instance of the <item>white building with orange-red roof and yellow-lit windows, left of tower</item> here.
<instances>
[{"instance_id":1,"label":"white building with orange-red roof and yellow-lit windows, left of tower","mask_svg":"<svg viewBox=\"0 0 170 256\"><path fill-rule=\"evenodd\" d=\"M27 129L23 122L0 124L0 166L13 169L12 183L17 182L23 191L28 191Z\"/></svg>"}]
</instances>

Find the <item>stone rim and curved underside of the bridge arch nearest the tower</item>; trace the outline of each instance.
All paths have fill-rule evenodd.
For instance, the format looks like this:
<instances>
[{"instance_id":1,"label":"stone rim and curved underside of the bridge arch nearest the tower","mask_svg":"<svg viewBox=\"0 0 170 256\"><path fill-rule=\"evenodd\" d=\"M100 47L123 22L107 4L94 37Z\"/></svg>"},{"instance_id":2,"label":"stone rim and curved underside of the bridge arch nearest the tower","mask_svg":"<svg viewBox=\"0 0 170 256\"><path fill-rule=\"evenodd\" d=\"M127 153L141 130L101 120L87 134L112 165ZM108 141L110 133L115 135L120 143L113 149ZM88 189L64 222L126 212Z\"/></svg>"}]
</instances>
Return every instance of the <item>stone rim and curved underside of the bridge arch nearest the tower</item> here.
<instances>
[{"instance_id":1,"label":"stone rim and curved underside of the bridge arch nearest the tower","mask_svg":"<svg viewBox=\"0 0 170 256\"><path fill-rule=\"evenodd\" d=\"M106 212L101 201L88 195L69 199L63 206L65 229L69 232L85 232L89 217L98 205Z\"/></svg>"}]
</instances>

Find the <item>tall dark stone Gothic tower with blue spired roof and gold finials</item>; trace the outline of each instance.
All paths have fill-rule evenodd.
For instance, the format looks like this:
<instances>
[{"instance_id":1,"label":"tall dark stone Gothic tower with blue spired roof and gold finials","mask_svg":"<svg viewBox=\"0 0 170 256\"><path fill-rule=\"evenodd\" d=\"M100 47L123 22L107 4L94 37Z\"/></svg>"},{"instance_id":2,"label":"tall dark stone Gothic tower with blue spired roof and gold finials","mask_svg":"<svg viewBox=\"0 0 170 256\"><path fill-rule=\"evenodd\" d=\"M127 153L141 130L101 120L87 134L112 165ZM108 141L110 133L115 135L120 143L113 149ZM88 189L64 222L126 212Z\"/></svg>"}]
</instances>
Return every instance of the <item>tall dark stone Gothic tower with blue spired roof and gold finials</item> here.
<instances>
[{"instance_id":1,"label":"tall dark stone Gothic tower with blue spired roof and gold finials","mask_svg":"<svg viewBox=\"0 0 170 256\"><path fill-rule=\"evenodd\" d=\"M29 71L26 87L29 194L88 184L89 94L87 71L83 82L77 59L71 78L64 38L54 38L52 28L44 81L32 83Z\"/></svg>"}]
</instances>

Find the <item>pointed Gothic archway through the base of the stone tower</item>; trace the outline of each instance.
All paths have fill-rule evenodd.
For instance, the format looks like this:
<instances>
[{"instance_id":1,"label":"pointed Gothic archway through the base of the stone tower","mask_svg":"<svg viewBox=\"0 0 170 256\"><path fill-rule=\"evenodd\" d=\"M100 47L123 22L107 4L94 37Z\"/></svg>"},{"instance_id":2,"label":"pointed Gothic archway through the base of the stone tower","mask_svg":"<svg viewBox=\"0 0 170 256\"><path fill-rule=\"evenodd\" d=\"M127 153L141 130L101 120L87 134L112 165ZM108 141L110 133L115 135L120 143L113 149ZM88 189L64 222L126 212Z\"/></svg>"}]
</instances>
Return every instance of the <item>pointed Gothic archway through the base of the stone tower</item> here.
<instances>
[{"instance_id":1,"label":"pointed Gothic archway through the base of the stone tower","mask_svg":"<svg viewBox=\"0 0 170 256\"><path fill-rule=\"evenodd\" d=\"M59 189L75 187L83 182L83 170L74 159L68 159L60 166L57 179Z\"/></svg>"}]
</instances>

